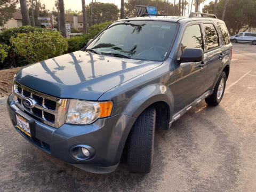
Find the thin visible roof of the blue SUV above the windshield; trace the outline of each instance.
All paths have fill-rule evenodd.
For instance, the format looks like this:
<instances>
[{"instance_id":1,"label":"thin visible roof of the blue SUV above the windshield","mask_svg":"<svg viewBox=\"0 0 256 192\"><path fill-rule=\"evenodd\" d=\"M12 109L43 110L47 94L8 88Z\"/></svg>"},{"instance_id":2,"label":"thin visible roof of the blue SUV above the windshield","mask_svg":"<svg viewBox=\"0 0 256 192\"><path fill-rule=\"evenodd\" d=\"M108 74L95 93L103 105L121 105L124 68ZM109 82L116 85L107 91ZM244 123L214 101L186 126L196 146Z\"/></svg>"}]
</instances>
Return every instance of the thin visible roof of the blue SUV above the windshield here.
<instances>
[{"instance_id":1,"label":"thin visible roof of the blue SUV above the windshield","mask_svg":"<svg viewBox=\"0 0 256 192\"><path fill-rule=\"evenodd\" d=\"M185 23L188 21L195 21L195 20L211 20L211 21L223 22L220 19L215 19L210 17L183 17L183 16L135 17L135 18L121 19L119 21L123 21L123 20L155 20L155 21L169 21L169 22L180 22L180 23Z\"/></svg>"}]
</instances>

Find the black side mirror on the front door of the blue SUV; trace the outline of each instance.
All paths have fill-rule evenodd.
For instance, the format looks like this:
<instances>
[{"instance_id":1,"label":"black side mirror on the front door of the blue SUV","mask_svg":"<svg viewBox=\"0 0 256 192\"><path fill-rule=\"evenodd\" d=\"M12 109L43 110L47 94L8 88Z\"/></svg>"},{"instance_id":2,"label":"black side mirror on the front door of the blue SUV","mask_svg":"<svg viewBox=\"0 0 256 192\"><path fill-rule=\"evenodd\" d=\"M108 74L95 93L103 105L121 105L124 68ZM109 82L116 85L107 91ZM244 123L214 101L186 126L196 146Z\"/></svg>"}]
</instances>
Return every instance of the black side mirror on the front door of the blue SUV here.
<instances>
[{"instance_id":1,"label":"black side mirror on the front door of the blue SUV","mask_svg":"<svg viewBox=\"0 0 256 192\"><path fill-rule=\"evenodd\" d=\"M204 52L202 49L185 49L177 60L179 63L182 62L200 62L204 60Z\"/></svg>"}]
</instances>

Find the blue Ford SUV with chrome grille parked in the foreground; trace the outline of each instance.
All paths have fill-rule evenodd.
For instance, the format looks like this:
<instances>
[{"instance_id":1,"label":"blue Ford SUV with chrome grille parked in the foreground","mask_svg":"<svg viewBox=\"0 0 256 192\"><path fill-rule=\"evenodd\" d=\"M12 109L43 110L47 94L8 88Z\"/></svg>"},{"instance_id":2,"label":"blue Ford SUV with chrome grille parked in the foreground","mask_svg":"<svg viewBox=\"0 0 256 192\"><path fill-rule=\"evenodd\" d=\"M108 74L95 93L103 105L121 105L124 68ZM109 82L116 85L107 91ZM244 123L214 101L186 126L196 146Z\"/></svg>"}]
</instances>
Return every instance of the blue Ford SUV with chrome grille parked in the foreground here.
<instances>
[{"instance_id":1,"label":"blue Ford SUV with chrome grille parked in the foreground","mask_svg":"<svg viewBox=\"0 0 256 192\"><path fill-rule=\"evenodd\" d=\"M33 145L80 169L109 173L122 159L148 173L155 129L203 100L218 105L231 56L214 15L118 20L83 50L21 69L10 118Z\"/></svg>"}]
</instances>

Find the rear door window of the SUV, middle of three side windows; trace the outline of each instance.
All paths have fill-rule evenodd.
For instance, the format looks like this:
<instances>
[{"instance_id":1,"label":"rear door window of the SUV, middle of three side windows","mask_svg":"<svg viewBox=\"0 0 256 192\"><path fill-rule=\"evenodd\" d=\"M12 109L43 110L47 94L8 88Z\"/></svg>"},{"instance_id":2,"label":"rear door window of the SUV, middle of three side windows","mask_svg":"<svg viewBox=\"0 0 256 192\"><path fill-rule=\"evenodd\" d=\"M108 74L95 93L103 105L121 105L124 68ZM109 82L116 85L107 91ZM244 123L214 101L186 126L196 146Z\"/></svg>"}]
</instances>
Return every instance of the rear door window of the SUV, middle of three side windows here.
<instances>
[{"instance_id":1,"label":"rear door window of the SUV, middle of three side windows","mask_svg":"<svg viewBox=\"0 0 256 192\"><path fill-rule=\"evenodd\" d=\"M206 51L219 46L218 34L212 24L204 24Z\"/></svg>"}]
</instances>

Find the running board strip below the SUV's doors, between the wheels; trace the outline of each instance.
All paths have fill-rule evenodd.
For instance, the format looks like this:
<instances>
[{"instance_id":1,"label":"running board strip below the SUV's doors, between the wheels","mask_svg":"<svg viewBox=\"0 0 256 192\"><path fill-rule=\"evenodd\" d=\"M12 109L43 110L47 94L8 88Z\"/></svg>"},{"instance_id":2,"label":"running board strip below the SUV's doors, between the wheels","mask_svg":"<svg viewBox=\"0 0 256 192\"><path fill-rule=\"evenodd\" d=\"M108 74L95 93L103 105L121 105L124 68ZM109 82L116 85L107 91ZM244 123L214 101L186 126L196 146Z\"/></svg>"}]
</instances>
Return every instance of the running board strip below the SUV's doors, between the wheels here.
<instances>
[{"instance_id":1,"label":"running board strip below the SUV's doors, between the wheels","mask_svg":"<svg viewBox=\"0 0 256 192\"><path fill-rule=\"evenodd\" d=\"M192 107L196 106L198 103L200 103L201 101L203 101L205 98L207 98L209 95L211 95L213 92L213 90L211 91L206 91L204 94L201 95L201 97L197 98L195 101L193 101L192 103L190 103L189 105L187 105L185 108L183 108L182 110L180 110L178 113L174 114L172 116L172 121L169 124L169 127L171 126L171 124L174 121L177 121L182 115L184 115L189 109L191 109Z\"/></svg>"}]
</instances>

